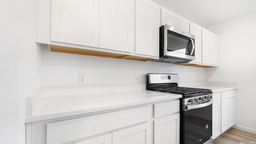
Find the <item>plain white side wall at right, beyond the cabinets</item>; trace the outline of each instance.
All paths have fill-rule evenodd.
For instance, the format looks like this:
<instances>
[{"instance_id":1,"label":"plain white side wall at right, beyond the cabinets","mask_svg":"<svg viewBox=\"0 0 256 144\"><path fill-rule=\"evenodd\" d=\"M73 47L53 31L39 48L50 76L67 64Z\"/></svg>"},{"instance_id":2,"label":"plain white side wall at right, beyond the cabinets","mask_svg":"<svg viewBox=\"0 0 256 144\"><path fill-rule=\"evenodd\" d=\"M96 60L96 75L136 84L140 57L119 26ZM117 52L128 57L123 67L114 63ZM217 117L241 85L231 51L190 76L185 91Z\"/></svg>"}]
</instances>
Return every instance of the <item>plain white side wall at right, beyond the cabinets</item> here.
<instances>
[{"instance_id":1,"label":"plain white side wall at right, beyond the cabinets","mask_svg":"<svg viewBox=\"0 0 256 144\"><path fill-rule=\"evenodd\" d=\"M256 133L256 12L208 28L219 35L219 68L206 81L237 82L236 121Z\"/></svg>"}]
</instances>

